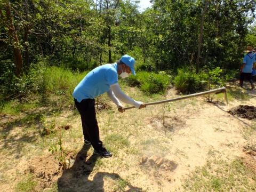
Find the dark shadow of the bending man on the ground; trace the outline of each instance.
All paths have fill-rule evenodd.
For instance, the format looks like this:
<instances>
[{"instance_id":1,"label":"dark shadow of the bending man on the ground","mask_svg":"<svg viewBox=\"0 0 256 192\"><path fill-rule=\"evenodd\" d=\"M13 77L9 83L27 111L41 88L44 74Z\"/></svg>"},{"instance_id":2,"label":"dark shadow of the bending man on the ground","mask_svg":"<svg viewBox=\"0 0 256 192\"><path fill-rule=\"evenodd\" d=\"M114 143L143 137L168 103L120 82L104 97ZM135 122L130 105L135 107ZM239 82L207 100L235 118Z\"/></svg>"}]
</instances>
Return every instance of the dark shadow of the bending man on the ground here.
<instances>
[{"instance_id":1,"label":"dark shadow of the bending man on the ground","mask_svg":"<svg viewBox=\"0 0 256 192\"><path fill-rule=\"evenodd\" d=\"M93 167L97 162L98 155L92 155L87 159L87 151L90 146L84 145L78 152L74 165L70 169L64 170L61 177L58 179L58 191L105 191L103 189L103 178L111 178L113 180L122 179L116 173L98 172L94 175L93 179L89 180L89 176L93 171ZM133 187L127 184L126 191L142 191L141 188ZM118 189L118 187L117 187ZM124 189L122 189L124 191Z\"/></svg>"}]
</instances>

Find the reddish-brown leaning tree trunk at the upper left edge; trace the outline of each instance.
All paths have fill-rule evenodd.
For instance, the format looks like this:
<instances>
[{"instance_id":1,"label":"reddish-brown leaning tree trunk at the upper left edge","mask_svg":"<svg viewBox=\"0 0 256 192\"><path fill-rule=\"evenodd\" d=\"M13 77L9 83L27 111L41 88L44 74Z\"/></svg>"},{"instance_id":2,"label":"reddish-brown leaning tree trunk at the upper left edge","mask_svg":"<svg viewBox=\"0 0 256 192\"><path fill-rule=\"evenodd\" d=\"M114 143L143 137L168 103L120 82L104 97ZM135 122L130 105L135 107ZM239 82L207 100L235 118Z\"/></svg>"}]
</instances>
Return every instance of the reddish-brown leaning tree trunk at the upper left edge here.
<instances>
[{"instance_id":1,"label":"reddish-brown leaning tree trunk at the upper left edge","mask_svg":"<svg viewBox=\"0 0 256 192\"><path fill-rule=\"evenodd\" d=\"M22 74L22 55L20 51L20 43L17 36L17 33L15 31L13 20L12 20L12 14L11 14L11 7L10 5L5 6L6 11L6 21L9 25L7 25L9 31L9 38L12 41L13 46L13 52L14 52L14 63L16 66L15 74L17 76L20 76Z\"/></svg>"}]
</instances>

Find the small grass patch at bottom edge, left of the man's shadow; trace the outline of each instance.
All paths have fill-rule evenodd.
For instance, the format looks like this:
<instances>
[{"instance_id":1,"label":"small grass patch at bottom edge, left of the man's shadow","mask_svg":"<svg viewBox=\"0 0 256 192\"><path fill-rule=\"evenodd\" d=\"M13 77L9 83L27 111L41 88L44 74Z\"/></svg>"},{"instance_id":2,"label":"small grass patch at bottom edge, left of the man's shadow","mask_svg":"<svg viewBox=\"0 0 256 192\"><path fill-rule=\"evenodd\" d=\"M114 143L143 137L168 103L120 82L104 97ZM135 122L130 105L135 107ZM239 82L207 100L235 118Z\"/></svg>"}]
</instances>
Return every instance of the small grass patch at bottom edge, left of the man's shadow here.
<instances>
[{"instance_id":1,"label":"small grass patch at bottom edge, left of the man's shadow","mask_svg":"<svg viewBox=\"0 0 256 192\"><path fill-rule=\"evenodd\" d=\"M33 180L33 175L26 175L26 178L18 182L15 191L17 192L30 192L35 191L37 182Z\"/></svg>"}]
</instances>

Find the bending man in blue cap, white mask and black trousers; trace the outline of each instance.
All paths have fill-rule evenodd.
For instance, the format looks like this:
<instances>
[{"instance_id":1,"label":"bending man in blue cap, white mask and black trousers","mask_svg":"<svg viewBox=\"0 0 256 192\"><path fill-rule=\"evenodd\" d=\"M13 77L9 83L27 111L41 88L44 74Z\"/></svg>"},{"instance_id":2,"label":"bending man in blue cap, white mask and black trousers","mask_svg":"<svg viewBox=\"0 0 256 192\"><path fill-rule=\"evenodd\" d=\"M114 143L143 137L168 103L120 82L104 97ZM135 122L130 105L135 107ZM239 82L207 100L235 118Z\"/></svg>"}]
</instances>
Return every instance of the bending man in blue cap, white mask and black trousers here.
<instances>
[{"instance_id":1,"label":"bending man in blue cap, white mask and black trousers","mask_svg":"<svg viewBox=\"0 0 256 192\"><path fill-rule=\"evenodd\" d=\"M135 101L124 94L118 84L118 75L121 78L135 75L135 60L130 55L113 64L99 66L90 71L75 87L73 97L79 114L81 115L84 144L92 145L94 154L102 157L111 157L112 154L102 145L99 137L99 127L95 114L94 98L107 92L109 98L116 104L118 111L123 113L124 107L119 101L133 105L138 109L146 107L143 102Z\"/></svg>"}]
</instances>

